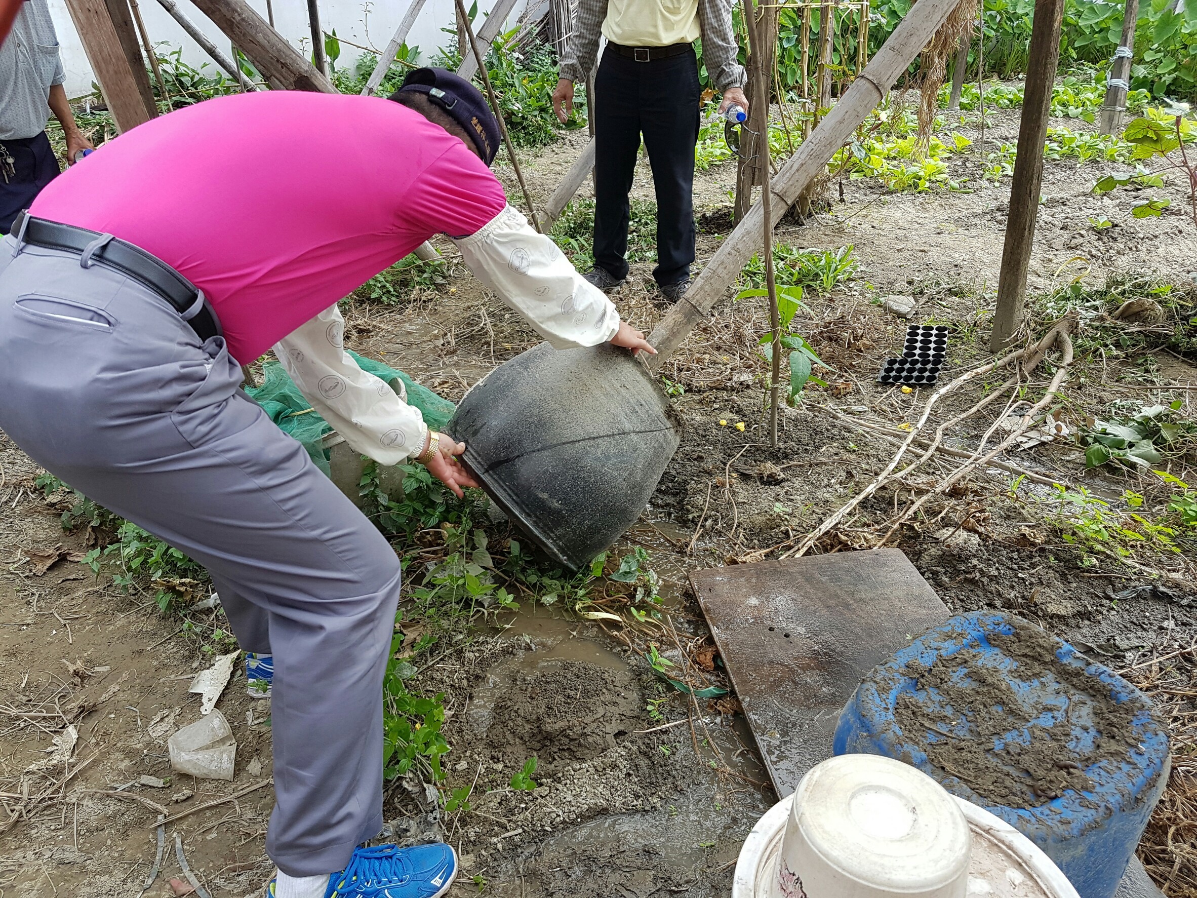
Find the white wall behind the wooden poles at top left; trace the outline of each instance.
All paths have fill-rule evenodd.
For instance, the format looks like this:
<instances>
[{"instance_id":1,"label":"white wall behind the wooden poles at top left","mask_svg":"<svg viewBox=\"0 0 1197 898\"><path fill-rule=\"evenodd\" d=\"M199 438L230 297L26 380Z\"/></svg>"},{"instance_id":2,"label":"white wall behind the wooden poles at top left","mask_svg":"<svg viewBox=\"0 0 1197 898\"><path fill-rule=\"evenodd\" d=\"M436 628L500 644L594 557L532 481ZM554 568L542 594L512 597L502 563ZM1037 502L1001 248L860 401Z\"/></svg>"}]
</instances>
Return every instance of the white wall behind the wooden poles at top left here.
<instances>
[{"instance_id":1,"label":"white wall behind the wooden poles at top left","mask_svg":"<svg viewBox=\"0 0 1197 898\"><path fill-rule=\"evenodd\" d=\"M479 0L479 10L487 11L494 6L497 0ZM66 68L67 95L81 97L91 92L93 75L91 66L87 65L87 56L84 53L83 43L75 32L74 23L67 12L66 0L49 0L50 14L54 18L54 26L59 32L59 43L62 47L62 65ZM266 0L249 0L249 4L266 18ZM178 6L183 13L203 32L212 38L212 42L231 53L229 38L226 38L215 25L200 12L189 0L178 0ZM308 4L305 0L272 0L274 7L274 25L294 47L303 47L306 54L311 53L311 29L308 25ZM390 36L399 26L400 19L407 11L408 0L384 0L371 4L367 0L321 0L320 24L324 31L336 29L339 37L352 41L363 47L385 48ZM190 65L199 67L207 62L207 73L219 71L217 65L208 59L208 55L200 49L187 34L178 26L165 10L158 5L158 0L139 0L138 7L145 19L146 31L150 40L156 44L168 42L172 47L183 47L183 59ZM506 28L514 28L519 14L523 12L524 2L517 2L508 18ZM369 14L367 14L369 11ZM454 20L454 0L427 0L420 11L415 25L407 36L408 47L420 48L420 60L427 62L437 48L452 43L454 38L440 31L448 28ZM479 17L475 24L482 22ZM369 25L369 35L366 26ZM300 44L300 41L303 43ZM363 50L341 44L341 65L352 63Z\"/></svg>"}]
</instances>

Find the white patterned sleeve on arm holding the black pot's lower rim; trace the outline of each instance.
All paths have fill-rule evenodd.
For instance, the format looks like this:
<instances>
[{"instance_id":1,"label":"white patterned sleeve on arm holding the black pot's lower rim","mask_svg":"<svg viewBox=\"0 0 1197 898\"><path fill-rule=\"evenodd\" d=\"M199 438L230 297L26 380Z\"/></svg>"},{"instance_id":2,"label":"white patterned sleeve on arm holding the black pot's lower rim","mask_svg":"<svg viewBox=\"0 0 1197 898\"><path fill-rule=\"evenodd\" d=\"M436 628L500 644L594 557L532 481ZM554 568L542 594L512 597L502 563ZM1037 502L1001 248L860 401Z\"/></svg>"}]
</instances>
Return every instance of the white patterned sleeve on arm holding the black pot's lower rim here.
<instances>
[{"instance_id":1,"label":"white patterned sleeve on arm holding the black pot's lower rim","mask_svg":"<svg viewBox=\"0 0 1197 898\"><path fill-rule=\"evenodd\" d=\"M335 305L274 346L274 354L320 417L353 449L379 465L419 455L429 429L383 380L345 351L345 320Z\"/></svg>"}]
</instances>

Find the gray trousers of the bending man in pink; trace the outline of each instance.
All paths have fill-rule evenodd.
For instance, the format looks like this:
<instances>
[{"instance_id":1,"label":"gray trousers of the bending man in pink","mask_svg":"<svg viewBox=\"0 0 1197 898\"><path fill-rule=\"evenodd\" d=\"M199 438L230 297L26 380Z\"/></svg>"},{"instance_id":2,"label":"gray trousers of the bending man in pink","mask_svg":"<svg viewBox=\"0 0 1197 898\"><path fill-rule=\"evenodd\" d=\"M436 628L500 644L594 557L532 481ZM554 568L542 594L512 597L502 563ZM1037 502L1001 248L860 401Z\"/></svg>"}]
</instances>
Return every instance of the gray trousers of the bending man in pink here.
<instances>
[{"instance_id":1,"label":"gray trousers of the bending man in pink","mask_svg":"<svg viewBox=\"0 0 1197 898\"><path fill-rule=\"evenodd\" d=\"M203 564L241 647L274 654L285 873L345 867L382 829L382 680L399 599L387 540L152 291L0 242L0 427L38 465Z\"/></svg>"}]
</instances>

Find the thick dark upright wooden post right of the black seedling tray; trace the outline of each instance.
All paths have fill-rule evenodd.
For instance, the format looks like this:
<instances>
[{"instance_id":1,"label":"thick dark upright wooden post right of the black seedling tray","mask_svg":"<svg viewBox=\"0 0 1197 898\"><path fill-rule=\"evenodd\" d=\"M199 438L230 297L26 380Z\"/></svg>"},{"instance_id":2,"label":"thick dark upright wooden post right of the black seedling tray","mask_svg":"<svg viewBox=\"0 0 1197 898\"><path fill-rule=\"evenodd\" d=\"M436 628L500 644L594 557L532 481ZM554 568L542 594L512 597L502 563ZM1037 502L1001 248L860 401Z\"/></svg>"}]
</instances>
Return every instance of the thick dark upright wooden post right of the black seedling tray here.
<instances>
[{"instance_id":1,"label":"thick dark upright wooden post right of the black seedling tray","mask_svg":"<svg viewBox=\"0 0 1197 898\"><path fill-rule=\"evenodd\" d=\"M1051 87L1059 61L1059 30L1064 0L1037 0L1031 26L1027 83L1023 89L1022 121L1019 126L1019 154L1010 184L1010 214L1005 222L1005 245L997 283L997 313L990 350L999 352L1022 321L1027 291L1027 268L1039 216L1039 190L1044 174L1044 142L1051 115Z\"/></svg>"}]
</instances>

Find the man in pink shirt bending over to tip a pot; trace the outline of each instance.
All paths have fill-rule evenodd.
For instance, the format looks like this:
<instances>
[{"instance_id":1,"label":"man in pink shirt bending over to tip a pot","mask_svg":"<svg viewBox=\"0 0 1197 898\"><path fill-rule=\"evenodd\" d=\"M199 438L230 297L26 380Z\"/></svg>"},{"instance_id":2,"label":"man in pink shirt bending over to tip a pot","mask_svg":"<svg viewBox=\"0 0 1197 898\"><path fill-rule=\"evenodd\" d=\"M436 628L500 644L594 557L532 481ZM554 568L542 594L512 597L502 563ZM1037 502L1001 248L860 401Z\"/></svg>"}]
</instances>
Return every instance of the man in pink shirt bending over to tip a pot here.
<instances>
[{"instance_id":1,"label":"man in pink shirt bending over to tip a pot","mask_svg":"<svg viewBox=\"0 0 1197 898\"><path fill-rule=\"evenodd\" d=\"M221 97L109 141L0 244L0 427L202 563L242 649L274 655L278 898L433 898L457 858L358 848L382 829L400 563L238 389L241 365L273 348L351 447L462 496L464 447L354 364L341 297L445 233L552 345L654 352L508 205L498 145L479 91L444 69L388 99Z\"/></svg>"}]
</instances>

